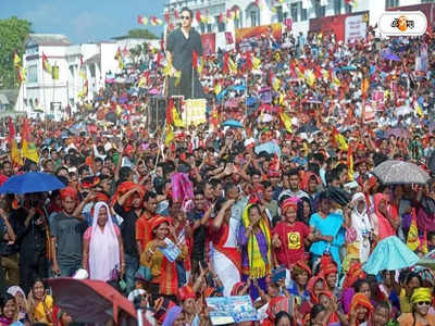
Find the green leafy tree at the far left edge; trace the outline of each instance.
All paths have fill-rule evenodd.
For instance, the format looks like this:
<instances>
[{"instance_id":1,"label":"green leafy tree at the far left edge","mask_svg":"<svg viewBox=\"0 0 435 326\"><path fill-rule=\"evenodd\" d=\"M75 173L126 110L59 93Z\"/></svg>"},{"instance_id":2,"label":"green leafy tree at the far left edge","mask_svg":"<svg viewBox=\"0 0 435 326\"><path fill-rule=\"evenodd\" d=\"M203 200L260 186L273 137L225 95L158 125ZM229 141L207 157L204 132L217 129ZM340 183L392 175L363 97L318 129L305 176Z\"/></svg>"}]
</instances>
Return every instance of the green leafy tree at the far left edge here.
<instances>
[{"instance_id":1,"label":"green leafy tree at the far left edge","mask_svg":"<svg viewBox=\"0 0 435 326\"><path fill-rule=\"evenodd\" d=\"M15 16L0 20L0 88L14 88L16 72L14 52L23 60L24 42L32 33L32 23Z\"/></svg>"}]
</instances>

